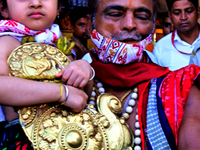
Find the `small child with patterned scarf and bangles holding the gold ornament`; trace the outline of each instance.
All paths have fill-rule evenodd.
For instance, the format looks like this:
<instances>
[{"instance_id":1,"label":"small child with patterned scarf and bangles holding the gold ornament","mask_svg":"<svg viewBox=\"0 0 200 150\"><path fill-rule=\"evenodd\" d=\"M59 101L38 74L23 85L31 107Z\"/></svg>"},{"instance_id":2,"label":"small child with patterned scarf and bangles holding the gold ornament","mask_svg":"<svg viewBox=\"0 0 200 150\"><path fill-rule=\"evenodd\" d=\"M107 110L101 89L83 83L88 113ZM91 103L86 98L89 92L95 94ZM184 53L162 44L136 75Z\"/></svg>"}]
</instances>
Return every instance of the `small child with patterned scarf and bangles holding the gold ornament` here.
<instances>
[{"instance_id":1,"label":"small child with patterned scarf and bangles holding the gold ornament","mask_svg":"<svg viewBox=\"0 0 200 150\"><path fill-rule=\"evenodd\" d=\"M70 63L67 68L56 75L57 77L62 76L62 81L68 85L60 89L60 85L56 83L39 83L8 77L7 59L11 52L21 45L23 37L31 35L34 36L36 42L45 44L51 44L60 37L59 26L53 22L61 4L61 0L2 0L1 14L10 20L0 21L0 77L7 80L5 88L10 90L12 87L11 91L0 90L0 103L2 105L25 106L55 102L58 101L59 96L59 102L62 103L65 101L67 88L70 94L64 104L75 112L79 112L85 107L87 96L78 88L82 88L88 83L92 71L90 65L84 60ZM18 85L18 83L20 84ZM63 94L60 94L62 93L61 89L65 89ZM8 92L12 92L12 94ZM16 95L12 97L13 94ZM77 99L77 101L73 99ZM4 142L1 143L0 148L31 149L31 143L25 137L19 122L16 120L18 115L14 114L13 109L8 107L5 108L5 113L9 124L4 130ZM18 139L15 139L15 134L18 135Z\"/></svg>"}]
</instances>

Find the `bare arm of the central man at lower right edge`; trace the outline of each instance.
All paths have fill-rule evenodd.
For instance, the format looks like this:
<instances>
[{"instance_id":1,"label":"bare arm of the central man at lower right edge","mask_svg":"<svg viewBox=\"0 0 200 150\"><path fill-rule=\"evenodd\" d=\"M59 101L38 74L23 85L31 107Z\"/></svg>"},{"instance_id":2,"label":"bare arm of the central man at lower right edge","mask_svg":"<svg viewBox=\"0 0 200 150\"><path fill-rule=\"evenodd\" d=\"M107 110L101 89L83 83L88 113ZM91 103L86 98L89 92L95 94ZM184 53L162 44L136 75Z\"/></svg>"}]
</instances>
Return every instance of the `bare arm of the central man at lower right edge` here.
<instances>
[{"instance_id":1,"label":"bare arm of the central man at lower right edge","mask_svg":"<svg viewBox=\"0 0 200 150\"><path fill-rule=\"evenodd\" d=\"M200 88L193 85L184 106L178 135L178 150L200 149Z\"/></svg>"}]
</instances>

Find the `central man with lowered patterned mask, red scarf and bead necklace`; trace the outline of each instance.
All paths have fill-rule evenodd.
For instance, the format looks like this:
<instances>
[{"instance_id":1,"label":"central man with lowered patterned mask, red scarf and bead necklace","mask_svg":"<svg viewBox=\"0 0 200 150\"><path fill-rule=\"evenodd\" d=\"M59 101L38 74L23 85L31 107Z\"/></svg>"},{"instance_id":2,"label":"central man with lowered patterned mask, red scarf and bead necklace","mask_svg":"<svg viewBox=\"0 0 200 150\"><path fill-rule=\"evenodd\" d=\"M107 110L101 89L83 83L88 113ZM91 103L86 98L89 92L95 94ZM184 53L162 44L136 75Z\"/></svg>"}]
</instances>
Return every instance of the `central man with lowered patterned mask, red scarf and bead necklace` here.
<instances>
[{"instance_id":1,"label":"central man with lowered patterned mask, red scarf and bead necklace","mask_svg":"<svg viewBox=\"0 0 200 150\"><path fill-rule=\"evenodd\" d=\"M103 93L121 100L123 110L118 115L134 134L134 150L176 149L182 142L194 149L190 138L200 126L196 108L200 94L192 84L200 68L190 65L170 72L152 63L144 49L152 41L156 4L156 0L89 1L96 46L90 51L96 72L90 104L96 106L95 97Z\"/></svg>"}]
</instances>

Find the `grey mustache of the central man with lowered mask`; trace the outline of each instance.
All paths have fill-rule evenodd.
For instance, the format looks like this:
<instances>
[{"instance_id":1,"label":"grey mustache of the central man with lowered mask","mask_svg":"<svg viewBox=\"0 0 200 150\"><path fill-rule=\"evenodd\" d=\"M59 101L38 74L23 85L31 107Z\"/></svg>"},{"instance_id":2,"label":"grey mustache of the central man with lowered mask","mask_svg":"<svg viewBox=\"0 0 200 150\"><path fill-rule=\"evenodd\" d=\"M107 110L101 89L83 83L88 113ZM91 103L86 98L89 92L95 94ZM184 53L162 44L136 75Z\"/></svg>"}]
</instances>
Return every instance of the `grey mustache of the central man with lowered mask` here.
<instances>
[{"instance_id":1,"label":"grey mustache of the central man with lowered mask","mask_svg":"<svg viewBox=\"0 0 200 150\"><path fill-rule=\"evenodd\" d=\"M141 41L142 40L142 35L138 31L134 31L131 33L128 32L117 32L112 35L113 40L117 41L124 41L126 39L132 39L134 41Z\"/></svg>"}]
</instances>

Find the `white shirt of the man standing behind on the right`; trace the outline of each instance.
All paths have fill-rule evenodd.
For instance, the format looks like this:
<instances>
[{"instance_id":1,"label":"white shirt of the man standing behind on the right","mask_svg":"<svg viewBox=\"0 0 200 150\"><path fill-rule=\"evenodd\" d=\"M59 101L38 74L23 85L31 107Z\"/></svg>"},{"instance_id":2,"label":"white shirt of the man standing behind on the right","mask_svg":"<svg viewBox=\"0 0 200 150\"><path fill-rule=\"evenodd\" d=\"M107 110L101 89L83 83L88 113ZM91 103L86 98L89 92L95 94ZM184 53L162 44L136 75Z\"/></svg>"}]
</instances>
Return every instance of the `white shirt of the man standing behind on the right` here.
<instances>
[{"instance_id":1,"label":"white shirt of the man standing behind on the right","mask_svg":"<svg viewBox=\"0 0 200 150\"><path fill-rule=\"evenodd\" d=\"M180 52L172 45L171 36L172 33L160 39L154 46L153 54L157 60L155 63L163 67L168 67L169 70L173 71L189 65L190 53L192 53L195 45L200 42L200 35L192 45L190 45L182 41L177 31L175 31L174 44ZM188 54L183 54L181 52Z\"/></svg>"}]
</instances>

